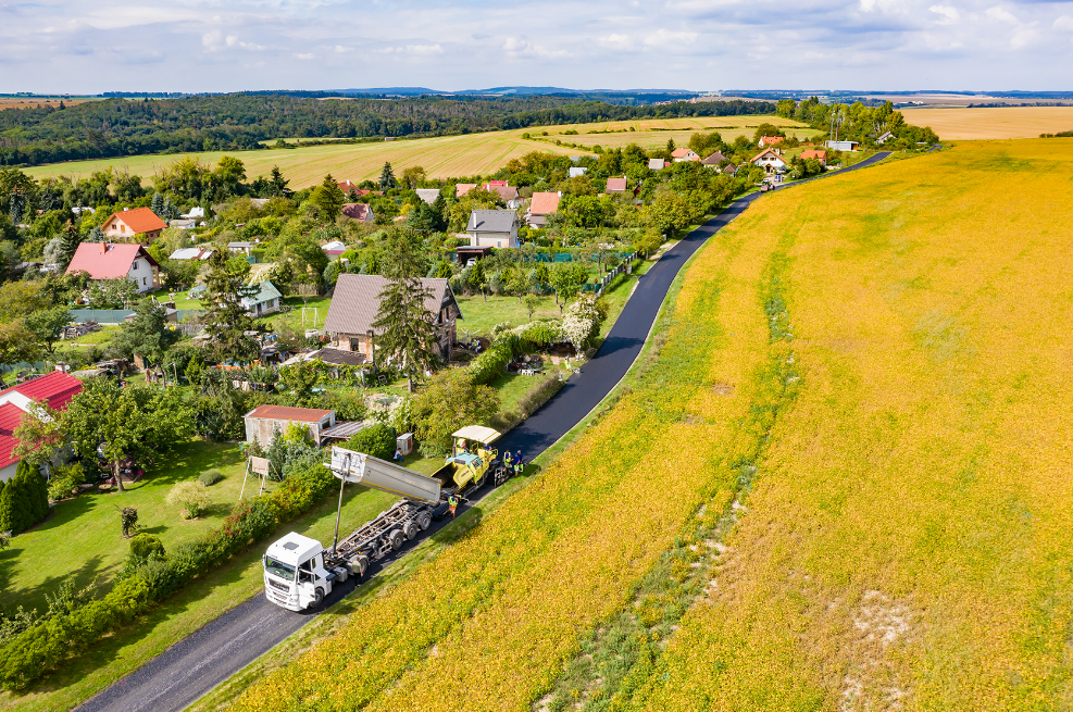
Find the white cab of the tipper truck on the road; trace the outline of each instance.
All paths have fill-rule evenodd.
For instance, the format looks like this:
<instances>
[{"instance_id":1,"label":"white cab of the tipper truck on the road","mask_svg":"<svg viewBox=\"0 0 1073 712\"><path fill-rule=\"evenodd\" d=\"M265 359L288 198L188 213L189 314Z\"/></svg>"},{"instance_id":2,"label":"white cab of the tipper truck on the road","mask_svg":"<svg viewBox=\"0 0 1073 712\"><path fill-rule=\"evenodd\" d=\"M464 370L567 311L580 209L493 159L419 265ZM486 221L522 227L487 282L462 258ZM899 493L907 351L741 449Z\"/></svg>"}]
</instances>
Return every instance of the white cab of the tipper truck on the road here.
<instances>
[{"instance_id":1,"label":"white cab of the tipper truck on the road","mask_svg":"<svg viewBox=\"0 0 1073 712\"><path fill-rule=\"evenodd\" d=\"M324 567L321 542L294 532L270 546L262 563L265 597L290 611L320 605L337 577Z\"/></svg>"}]
</instances>

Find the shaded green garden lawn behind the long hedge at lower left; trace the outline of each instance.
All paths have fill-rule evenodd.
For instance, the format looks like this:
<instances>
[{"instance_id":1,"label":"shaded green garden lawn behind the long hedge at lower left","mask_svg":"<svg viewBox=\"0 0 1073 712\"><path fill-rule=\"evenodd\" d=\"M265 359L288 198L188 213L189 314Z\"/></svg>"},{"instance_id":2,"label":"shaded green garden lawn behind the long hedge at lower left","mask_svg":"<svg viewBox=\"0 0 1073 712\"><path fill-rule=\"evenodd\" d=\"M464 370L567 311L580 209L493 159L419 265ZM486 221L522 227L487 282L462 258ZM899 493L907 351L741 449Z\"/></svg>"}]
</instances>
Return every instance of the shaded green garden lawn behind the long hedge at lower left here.
<instances>
[{"instance_id":1,"label":"shaded green garden lawn behind the long hedge at lower left","mask_svg":"<svg viewBox=\"0 0 1073 712\"><path fill-rule=\"evenodd\" d=\"M130 550L120 535L118 510L134 507L138 524L171 549L220 525L238 501L242 467L236 445L191 441L179 446L125 492L92 492L59 502L50 519L14 539L0 552L0 595L4 607L48 608L45 595L64 578L82 587L98 579L108 585ZM217 467L224 479L209 488L213 505L198 520L183 521L178 508L164 502L172 486ZM73 536L77 533L77 536Z\"/></svg>"}]
</instances>

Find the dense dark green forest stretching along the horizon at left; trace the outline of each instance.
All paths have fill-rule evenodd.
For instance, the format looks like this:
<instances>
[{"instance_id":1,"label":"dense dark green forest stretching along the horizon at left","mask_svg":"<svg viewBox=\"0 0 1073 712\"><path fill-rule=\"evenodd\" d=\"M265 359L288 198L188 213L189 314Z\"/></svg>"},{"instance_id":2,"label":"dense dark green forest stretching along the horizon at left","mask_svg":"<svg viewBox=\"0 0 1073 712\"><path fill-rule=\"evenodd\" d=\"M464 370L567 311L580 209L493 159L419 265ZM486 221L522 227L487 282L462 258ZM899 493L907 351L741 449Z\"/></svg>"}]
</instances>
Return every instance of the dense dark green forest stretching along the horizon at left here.
<instances>
[{"instance_id":1,"label":"dense dark green forest stretching along the horizon at left","mask_svg":"<svg viewBox=\"0 0 1073 712\"><path fill-rule=\"evenodd\" d=\"M262 148L280 137L444 136L575 122L766 114L761 101L631 107L581 98L316 99L233 93L0 111L0 165Z\"/></svg>"}]
</instances>

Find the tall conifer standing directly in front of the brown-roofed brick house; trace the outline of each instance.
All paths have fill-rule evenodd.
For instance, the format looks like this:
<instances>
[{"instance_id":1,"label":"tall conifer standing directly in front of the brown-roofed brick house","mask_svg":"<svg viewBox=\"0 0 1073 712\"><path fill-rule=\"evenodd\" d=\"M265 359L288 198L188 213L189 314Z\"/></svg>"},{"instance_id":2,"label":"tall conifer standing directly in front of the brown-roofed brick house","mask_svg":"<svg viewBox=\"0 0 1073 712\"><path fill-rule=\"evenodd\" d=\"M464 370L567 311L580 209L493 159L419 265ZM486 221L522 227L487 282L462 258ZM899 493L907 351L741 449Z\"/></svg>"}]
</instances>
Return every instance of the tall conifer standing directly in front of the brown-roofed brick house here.
<instances>
[{"instance_id":1,"label":"tall conifer standing directly in front of the brown-roofed brick house","mask_svg":"<svg viewBox=\"0 0 1073 712\"><path fill-rule=\"evenodd\" d=\"M400 229L388 238L383 274L388 283L379 293L380 307L373 327L376 346L394 359L407 375L407 388L439 363L436 350L436 314L425 307L432 292L421 280L427 272L420 239Z\"/></svg>"}]
</instances>

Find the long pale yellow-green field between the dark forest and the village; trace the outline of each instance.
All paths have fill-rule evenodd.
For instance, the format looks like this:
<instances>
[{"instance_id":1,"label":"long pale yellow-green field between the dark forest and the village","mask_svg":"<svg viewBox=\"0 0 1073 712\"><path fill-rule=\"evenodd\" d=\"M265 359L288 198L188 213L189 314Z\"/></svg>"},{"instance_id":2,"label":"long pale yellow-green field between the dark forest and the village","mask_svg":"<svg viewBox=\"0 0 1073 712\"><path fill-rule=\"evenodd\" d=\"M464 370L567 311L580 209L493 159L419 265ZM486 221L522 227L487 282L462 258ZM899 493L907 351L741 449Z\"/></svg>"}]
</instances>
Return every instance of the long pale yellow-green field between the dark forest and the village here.
<instances>
[{"instance_id":1,"label":"long pale yellow-green field between the dark forest and the village","mask_svg":"<svg viewBox=\"0 0 1073 712\"><path fill-rule=\"evenodd\" d=\"M738 135L752 138L756 127L764 122L786 126L795 135L803 136L814 133L812 129L806 129L798 122L778 116L703 116L537 126L506 132L484 132L464 136L375 143L310 146L267 151L215 151L189 155L197 157L213 165L221 157L233 155L245 163L246 173L250 177L267 175L273 166L278 165L283 174L290 180L290 187L297 189L319 184L328 173L335 176L337 180L349 179L355 183L365 179L375 180L386 161L391 163L397 175L401 175L401 172L408 167L420 165L432 178L449 178L477 174L488 175L498 171L511 159L520 158L531 151L572 155L577 154L578 150L584 150L558 147L548 140L525 139L522 137L525 133L537 136L547 130L548 138L552 140L558 137L585 146L600 143L604 147L611 147L638 143L648 148L662 148L669 138L673 138L675 143L685 146L689 142L689 136L700 130L719 130L724 140L733 140ZM623 134L587 134L589 130L603 130L609 127L614 129L628 128L629 126L636 130ZM562 132L569 129L577 130L578 135L561 136ZM149 178L160 167L185 155L136 155L98 161L73 161L26 168L26 173L35 178L59 175L85 178L95 171L102 171L112 166Z\"/></svg>"}]
</instances>

